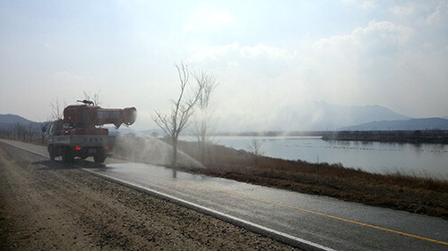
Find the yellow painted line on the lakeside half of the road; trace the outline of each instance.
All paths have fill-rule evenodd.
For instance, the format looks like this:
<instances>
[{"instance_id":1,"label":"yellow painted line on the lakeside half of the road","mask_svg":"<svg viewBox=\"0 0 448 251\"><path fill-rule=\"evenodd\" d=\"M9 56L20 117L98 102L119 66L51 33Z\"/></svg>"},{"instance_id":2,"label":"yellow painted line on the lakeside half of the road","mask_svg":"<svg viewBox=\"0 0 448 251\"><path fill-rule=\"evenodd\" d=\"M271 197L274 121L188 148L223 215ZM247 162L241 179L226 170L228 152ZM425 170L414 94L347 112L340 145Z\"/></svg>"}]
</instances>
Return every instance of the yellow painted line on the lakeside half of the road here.
<instances>
[{"instance_id":1,"label":"yellow painted line on the lakeside half of the road","mask_svg":"<svg viewBox=\"0 0 448 251\"><path fill-rule=\"evenodd\" d=\"M185 182L185 183L192 184L192 185L197 186L197 187L209 188L209 189L221 191L221 192L224 192L224 193L228 193L228 194L231 194L231 195L235 195L237 197L246 197L246 198L254 199L254 200L257 200L257 201L264 202L264 203L268 203L268 204L271 204L271 205L280 205L280 206L288 207L288 208L295 209L295 210L298 210L298 211L302 211L302 212L306 212L306 213L313 213L313 214L321 215L321 216L324 216L324 217L327 217L327 218L340 220L342 222L350 222L350 223L353 223L353 224L365 226L365 227L376 229L376 230L383 230L383 231L387 231L387 232L400 234L400 235L403 235L403 236L408 236L408 237L411 237L411 238L419 238L419 239L423 239L423 240L426 240L426 241L435 242L435 243L438 243L438 244L442 244L442 245L447 245L448 246L448 242L441 241L441 240L436 240L436 239L433 239L433 238L421 237L421 236L418 236L418 235L409 234L409 233L405 233L405 232L401 232L401 231L397 231L397 230L390 230L390 229L378 227L378 226L375 226L375 225L366 224L366 223L363 223L363 222L356 222L356 221L344 219L344 218L341 218L341 217L338 217L338 216L334 216L334 215L331 215L331 214L319 213L319 212L315 212L315 211L312 211L312 210L307 210L307 209L296 207L296 206L292 206L292 205L285 205L285 204L277 203L277 202L274 202L274 201L265 200L265 199L259 198L259 197L246 196L244 194L239 194L237 192L232 192L232 191L229 191L229 190L226 190L226 189L214 188L214 187L198 184L198 183L195 183L193 181L185 181L185 180L181 180L181 181Z\"/></svg>"}]
</instances>

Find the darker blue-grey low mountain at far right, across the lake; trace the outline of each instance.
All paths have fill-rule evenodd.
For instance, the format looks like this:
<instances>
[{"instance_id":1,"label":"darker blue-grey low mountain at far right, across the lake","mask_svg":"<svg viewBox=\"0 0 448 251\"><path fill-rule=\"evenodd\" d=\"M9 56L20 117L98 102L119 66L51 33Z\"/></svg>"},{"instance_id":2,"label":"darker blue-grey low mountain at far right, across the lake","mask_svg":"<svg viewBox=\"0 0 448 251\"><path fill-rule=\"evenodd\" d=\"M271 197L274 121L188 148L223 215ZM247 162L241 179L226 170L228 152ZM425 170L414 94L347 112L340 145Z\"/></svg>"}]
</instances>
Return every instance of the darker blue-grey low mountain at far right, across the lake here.
<instances>
[{"instance_id":1,"label":"darker blue-grey low mountain at far right, across the lake","mask_svg":"<svg viewBox=\"0 0 448 251\"><path fill-rule=\"evenodd\" d=\"M373 121L340 130L448 130L448 120L427 118L405 121Z\"/></svg>"}]
</instances>

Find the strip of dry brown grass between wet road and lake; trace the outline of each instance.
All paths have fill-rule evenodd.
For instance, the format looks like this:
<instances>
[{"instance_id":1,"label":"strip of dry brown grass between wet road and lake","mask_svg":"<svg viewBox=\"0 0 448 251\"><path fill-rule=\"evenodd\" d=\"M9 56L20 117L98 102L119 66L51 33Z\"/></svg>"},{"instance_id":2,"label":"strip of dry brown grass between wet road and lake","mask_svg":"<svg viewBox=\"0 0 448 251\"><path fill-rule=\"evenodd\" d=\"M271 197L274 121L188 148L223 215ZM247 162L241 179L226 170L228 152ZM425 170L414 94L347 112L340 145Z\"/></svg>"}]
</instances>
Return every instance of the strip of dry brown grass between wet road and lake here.
<instances>
[{"instance_id":1,"label":"strip of dry brown grass between wet road and lake","mask_svg":"<svg viewBox=\"0 0 448 251\"><path fill-rule=\"evenodd\" d=\"M194 143L179 148L199 159ZM204 165L207 169L183 170L274 188L337 197L366 205L399 209L448 219L448 180L403 175L400 172L375 174L344 168L341 164L306 163L270 157L259 159L246 151L210 146Z\"/></svg>"}]
</instances>

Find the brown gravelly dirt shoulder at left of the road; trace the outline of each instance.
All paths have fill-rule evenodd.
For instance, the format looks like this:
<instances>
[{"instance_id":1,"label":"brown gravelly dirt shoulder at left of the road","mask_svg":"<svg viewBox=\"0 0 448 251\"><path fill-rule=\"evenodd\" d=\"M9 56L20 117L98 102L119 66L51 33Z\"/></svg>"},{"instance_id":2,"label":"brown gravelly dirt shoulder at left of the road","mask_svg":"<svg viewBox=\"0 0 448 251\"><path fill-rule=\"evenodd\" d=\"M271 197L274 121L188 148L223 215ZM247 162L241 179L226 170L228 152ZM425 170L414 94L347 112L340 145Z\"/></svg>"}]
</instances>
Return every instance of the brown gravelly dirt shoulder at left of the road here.
<instances>
[{"instance_id":1,"label":"brown gravelly dirt shoulder at left of the road","mask_svg":"<svg viewBox=\"0 0 448 251\"><path fill-rule=\"evenodd\" d=\"M1 250L294 250L0 143Z\"/></svg>"}]
</instances>

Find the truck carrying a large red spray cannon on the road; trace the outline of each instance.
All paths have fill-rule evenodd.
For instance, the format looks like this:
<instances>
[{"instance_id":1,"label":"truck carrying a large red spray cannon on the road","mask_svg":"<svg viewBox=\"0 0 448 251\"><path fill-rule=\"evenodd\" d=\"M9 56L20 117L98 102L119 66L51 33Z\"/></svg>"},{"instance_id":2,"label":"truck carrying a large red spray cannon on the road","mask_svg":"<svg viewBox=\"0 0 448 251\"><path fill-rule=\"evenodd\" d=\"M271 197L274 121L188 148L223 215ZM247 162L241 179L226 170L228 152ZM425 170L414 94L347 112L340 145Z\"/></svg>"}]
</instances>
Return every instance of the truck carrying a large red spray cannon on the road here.
<instances>
[{"instance_id":1,"label":"truck carrying a large red spray cannon on the road","mask_svg":"<svg viewBox=\"0 0 448 251\"><path fill-rule=\"evenodd\" d=\"M104 163L115 145L115 136L109 135L105 124L132 125L137 117L134 107L104 109L89 100L82 105L68 105L62 120L53 121L46 129L50 160L62 156L64 163L73 163L75 157L93 156L95 163Z\"/></svg>"}]
</instances>

